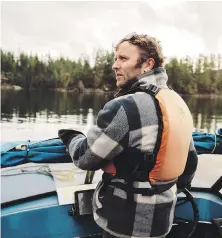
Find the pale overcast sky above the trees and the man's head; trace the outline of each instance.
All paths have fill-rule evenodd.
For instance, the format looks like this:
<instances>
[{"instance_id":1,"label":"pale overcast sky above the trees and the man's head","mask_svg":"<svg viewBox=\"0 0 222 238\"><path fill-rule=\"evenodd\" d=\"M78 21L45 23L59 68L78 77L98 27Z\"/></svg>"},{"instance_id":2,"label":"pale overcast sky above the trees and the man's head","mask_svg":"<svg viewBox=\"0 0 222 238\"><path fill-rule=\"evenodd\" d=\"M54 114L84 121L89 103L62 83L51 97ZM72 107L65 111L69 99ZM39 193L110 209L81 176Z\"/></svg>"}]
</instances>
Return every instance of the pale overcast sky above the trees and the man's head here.
<instances>
[{"instance_id":1,"label":"pale overcast sky above the trees and the man's head","mask_svg":"<svg viewBox=\"0 0 222 238\"><path fill-rule=\"evenodd\" d=\"M130 32L157 37L170 56L222 53L222 2L2 2L1 48L78 59Z\"/></svg>"}]
</instances>

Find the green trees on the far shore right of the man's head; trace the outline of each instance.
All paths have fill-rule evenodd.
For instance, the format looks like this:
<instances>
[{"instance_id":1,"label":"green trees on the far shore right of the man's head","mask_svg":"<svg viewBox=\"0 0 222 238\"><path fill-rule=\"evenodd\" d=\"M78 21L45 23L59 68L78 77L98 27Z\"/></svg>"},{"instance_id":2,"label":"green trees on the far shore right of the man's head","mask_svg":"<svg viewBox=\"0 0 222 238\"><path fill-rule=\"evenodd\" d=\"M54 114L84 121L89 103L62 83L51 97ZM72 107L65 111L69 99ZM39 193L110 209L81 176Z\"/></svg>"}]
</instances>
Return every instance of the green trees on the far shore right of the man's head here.
<instances>
[{"instance_id":1,"label":"green trees on the far shore right of the man's head","mask_svg":"<svg viewBox=\"0 0 222 238\"><path fill-rule=\"evenodd\" d=\"M216 65L218 66L215 69ZM166 64L169 85L181 94L221 93L221 55L199 55L196 62L189 57L178 61L171 58Z\"/></svg>"}]
</instances>

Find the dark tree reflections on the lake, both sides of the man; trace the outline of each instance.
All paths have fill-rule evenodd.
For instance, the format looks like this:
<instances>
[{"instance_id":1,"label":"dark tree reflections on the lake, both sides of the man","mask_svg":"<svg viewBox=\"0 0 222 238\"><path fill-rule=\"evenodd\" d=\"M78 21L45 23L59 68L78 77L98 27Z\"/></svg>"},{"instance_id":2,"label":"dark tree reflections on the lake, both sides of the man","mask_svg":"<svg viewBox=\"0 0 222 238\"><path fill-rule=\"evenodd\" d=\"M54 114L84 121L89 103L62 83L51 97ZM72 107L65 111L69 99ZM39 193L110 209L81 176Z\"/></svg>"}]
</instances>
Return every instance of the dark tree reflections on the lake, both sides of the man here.
<instances>
[{"instance_id":1,"label":"dark tree reflections on the lake, both sides of the man","mask_svg":"<svg viewBox=\"0 0 222 238\"><path fill-rule=\"evenodd\" d=\"M67 123L90 126L112 94L46 91L2 91L1 121L14 123ZM222 98L184 97L197 130L222 127Z\"/></svg>"}]
</instances>

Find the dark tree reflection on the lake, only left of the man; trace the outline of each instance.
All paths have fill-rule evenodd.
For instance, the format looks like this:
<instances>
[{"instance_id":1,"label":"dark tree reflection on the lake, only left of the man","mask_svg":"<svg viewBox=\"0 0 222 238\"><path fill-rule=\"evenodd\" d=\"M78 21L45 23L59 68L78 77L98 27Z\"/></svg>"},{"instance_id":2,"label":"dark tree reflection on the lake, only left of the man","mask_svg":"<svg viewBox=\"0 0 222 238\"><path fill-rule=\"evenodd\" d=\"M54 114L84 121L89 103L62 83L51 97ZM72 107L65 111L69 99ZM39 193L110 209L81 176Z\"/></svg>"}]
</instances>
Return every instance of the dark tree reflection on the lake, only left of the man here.
<instances>
[{"instance_id":1,"label":"dark tree reflection on the lake, only left of the man","mask_svg":"<svg viewBox=\"0 0 222 238\"><path fill-rule=\"evenodd\" d=\"M44 91L2 91L2 121L95 123L96 115L112 99L110 94Z\"/></svg>"}]
</instances>

